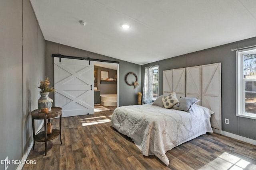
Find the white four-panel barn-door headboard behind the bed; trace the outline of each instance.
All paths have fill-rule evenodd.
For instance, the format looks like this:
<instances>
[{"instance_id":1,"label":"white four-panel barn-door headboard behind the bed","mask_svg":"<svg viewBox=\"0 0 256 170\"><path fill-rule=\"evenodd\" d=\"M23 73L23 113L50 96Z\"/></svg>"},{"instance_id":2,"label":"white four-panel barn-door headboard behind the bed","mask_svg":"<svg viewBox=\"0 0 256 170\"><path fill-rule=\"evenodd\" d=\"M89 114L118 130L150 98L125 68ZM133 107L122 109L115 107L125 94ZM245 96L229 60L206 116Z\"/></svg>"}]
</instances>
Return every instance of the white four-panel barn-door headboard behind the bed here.
<instances>
[{"instance_id":1,"label":"white four-panel barn-door headboard behind the bed","mask_svg":"<svg viewBox=\"0 0 256 170\"><path fill-rule=\"evenodd\" d=\"M198 105L214 111L213 131L221 133L221 64L206 64L163 71L163 95L198 98Z\"/></svg>"}]
</instances>

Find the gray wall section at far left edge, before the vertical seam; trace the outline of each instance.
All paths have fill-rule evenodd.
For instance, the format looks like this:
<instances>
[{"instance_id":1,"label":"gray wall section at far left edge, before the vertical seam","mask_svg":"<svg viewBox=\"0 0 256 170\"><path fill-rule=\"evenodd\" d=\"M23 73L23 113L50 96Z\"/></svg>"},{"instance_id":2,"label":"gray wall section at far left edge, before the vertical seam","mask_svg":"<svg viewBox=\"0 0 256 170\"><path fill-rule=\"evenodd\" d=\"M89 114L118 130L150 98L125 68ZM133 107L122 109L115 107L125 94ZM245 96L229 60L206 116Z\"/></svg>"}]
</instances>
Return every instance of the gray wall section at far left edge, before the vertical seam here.
<instances>
[{"instance_id":1,"label":"gray wall section at far left edge, before the vertical seam","mask_svg":"<svg viewBox=\"0 0 256 170\"><path fill-rule=\"evenodd\" d=\"M10 12L12 11L12 12ZM22 1L0 1L0 160L22 158ZM4 170L4 164L0 164ZM8 169L15 169L9 165Z\"/></svg>"}]
</instances>

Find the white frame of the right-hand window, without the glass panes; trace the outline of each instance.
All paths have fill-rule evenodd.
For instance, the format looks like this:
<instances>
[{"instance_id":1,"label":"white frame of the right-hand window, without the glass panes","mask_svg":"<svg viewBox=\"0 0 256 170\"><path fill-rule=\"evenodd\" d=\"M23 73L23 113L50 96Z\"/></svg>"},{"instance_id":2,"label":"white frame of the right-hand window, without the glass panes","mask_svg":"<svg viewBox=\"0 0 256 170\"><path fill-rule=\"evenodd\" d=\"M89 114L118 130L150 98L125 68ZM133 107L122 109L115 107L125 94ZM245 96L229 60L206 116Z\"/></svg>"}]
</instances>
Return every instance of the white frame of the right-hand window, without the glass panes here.
<instances>
[{"instance_id":1,"label":"white frame of the right-hand window, without the glass panes","mask_svg":"<svg viewBox=\"0 0 256 170\"><path fill-rule=\"evenodd\" d=\"M245 111L246 82L256 82L256 78L244 78L244 59L243 56L256 53L256 47L236 51L236 116L256 119L255 113Z\"/></svg>"}]
</instances>

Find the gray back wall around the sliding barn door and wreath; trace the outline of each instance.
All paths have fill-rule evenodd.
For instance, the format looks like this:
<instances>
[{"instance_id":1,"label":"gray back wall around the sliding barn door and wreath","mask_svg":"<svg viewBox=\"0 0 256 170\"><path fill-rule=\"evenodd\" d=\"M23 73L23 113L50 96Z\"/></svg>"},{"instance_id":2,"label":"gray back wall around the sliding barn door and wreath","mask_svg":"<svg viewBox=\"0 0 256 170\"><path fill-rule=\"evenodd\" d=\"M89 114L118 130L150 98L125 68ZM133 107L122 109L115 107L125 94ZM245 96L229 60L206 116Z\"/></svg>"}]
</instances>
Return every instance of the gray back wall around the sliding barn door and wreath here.
<instances>
[{"instance_id":1,"label":"gray back wall around the sliding barn door and wreath","mask_svg":"<svg viewBox=\"0 0 256 170\"><path fill-rule=\"evenodd\" d=\"M134 63L114 59L104 55L84 51L67 45L46 41L45 46L45 64L46 64L46 76L49 77L51 82L54 82L54 58L52 54L61 54L75 57L90 57L91 59L102 59L109 61L119 61L119 106L135 105L138 104L137 93L141 92L141 86L133 89L132 86L128 86L125 82L125 76L128 72L134 72L138 76L138 83L141 81L141 66ZM50 98L54 99L54 95L50 94Z\"/></svg>"}]
</instances>

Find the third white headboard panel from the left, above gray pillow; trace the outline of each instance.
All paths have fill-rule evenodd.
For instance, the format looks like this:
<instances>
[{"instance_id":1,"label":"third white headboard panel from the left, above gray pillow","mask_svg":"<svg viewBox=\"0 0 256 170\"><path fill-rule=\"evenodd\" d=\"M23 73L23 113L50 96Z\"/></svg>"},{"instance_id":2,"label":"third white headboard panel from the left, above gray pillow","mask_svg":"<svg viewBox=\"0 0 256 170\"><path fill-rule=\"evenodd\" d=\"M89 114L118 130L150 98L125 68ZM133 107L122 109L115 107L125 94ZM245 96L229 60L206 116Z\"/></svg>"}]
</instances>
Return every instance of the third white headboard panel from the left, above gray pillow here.
<instances>
[{"instance_id":1,"label":"third white headboard panel from the left, above gray pillow","mask_svg":"<svg viewBox=\"0 0 256 170\"><path fill-rule=\"evenodd\" d=\"M186 97L200 99L201 105L201 66L186 67Z\"/></svg>"}]
</instances>

